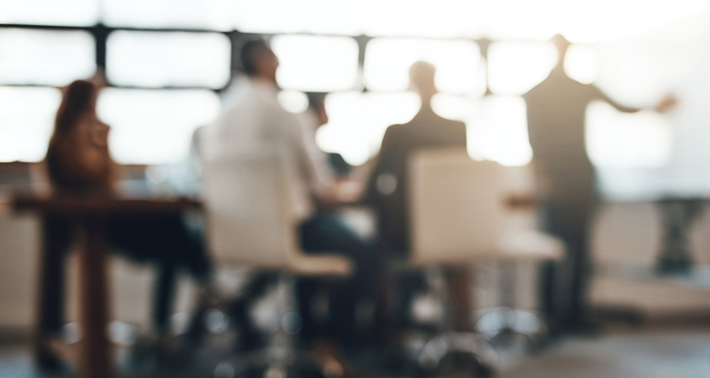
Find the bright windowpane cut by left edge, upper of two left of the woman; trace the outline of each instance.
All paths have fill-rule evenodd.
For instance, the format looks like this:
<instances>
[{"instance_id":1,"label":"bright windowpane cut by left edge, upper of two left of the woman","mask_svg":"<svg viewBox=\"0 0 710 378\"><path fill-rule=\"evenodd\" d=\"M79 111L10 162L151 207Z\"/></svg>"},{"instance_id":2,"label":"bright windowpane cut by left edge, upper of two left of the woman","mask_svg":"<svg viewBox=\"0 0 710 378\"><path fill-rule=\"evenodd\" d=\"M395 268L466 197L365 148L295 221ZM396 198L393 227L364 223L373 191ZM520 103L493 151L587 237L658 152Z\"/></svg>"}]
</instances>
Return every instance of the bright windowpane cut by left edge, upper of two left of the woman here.
<instances>
[{"instance_id":1,"label":"bright windowpane cut by left edge, upper of two left of the woman","mask_svg":"<svg viewBox=\"0 0 710 378\"><path fill-rule=\"evenodd\" d=\"M84 31L0 29L0 83L66 85L96 70Z\"/></svg>"}]
</instances>

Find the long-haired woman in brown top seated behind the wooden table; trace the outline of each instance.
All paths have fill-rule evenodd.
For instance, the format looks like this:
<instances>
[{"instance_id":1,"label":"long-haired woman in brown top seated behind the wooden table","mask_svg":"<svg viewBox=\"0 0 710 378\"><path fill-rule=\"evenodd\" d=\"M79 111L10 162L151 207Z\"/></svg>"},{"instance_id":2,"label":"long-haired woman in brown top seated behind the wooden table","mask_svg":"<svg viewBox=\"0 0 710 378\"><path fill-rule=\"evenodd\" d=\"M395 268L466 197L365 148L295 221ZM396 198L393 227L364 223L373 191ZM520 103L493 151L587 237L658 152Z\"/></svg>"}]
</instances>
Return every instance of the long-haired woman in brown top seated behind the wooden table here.
<instances>
[{"instance_id":1,"label":"long-haired woman in brown top seated behind the wooden table","mask_svg":"<svg viewBox=\"0 0 710 378\"><path fill-rule=\"evenodd\" d=\"M116 165L109 154L109 126L99 121L96 101L99 87L93 82L77 80L64 91L57 112L55 128L45 158L50 182L60 196L116 195ZM43 277L44 290L53 301L47 306L40 335L56 333L64 323L64 259L76 238L77 225L66 218L46 218L45 267L50 271ZM175 294L175 274L188 269L193 277L206 282L210 262L202 241L189 235L178 216L150 216L140 218L114 217L107 221L107 236L121 254L139 262L153 262L159 267L153 305L153 326L158 334L167 337Z\"/></svg>"}]
</instances>

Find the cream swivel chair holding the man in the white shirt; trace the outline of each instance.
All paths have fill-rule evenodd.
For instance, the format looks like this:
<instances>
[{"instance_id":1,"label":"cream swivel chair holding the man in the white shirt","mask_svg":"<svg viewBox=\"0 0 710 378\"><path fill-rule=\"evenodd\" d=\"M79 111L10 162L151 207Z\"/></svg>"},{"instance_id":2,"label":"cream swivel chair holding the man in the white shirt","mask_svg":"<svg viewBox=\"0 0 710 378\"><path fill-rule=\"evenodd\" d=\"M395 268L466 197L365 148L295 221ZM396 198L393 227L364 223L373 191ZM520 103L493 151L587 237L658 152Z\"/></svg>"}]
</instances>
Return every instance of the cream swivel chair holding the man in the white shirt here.
<instances>
[{"instance_id":1,"label":"cream swivel chair holding the man in the white shirt","mask_svg":"<svg viewBox=\"0 0 710 378\"><path fill-rule=\"evenodd\" d=\"M353 269L345 257L305 255L299 249L288 176L297 171L289 164L278 148L204 164L208 239L214 259L218 264L278 272L278 308L268 347L227 358L216 367L217 378L239 377L255 367L263 367L266 377L285 378L294 368L320 364L312 353L294 345L300 325L295 278L346 277Z\"/></svg>"}]
</instances>

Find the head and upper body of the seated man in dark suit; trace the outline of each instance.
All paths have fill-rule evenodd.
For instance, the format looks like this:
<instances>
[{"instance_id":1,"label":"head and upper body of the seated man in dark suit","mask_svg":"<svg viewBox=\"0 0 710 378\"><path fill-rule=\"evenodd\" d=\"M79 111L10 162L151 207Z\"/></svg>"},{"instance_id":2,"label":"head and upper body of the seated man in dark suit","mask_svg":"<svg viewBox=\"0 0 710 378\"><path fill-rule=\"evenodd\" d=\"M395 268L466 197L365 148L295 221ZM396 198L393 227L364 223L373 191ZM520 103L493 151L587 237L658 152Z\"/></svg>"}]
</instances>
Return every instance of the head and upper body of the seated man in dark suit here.
<instances>
[{"instance_id":1,"label":"head and upper body of the seated man in dark suit","mask_svg":"<svg viewBox=\"0 0 710 378\"><path fill-rule=\"evenodd\" d=\"M395 254L409 250L407 160L411 153L422 148L466 147L466 125L432 111L431 99L437 93L434 75L435 67L427 62L416 62L410 68L422 108L412 121L387 128L365 189L366 203L378 214L379 245Z\"/></svg>"}]
</instances>

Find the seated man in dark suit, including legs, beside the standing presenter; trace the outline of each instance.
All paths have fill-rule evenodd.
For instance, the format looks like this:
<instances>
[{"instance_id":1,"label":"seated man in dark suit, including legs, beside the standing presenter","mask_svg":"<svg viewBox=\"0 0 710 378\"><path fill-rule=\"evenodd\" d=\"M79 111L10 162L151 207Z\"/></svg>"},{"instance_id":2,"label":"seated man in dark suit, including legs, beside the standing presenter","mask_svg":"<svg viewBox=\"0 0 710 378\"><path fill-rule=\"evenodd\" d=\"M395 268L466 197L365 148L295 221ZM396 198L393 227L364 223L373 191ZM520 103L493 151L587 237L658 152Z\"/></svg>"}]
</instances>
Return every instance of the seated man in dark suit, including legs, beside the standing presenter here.
<instances>
[{"instance_id":1,"label":"seated man in dark suit, including legs, beside the standing presenter","mask_svg":"<svg viewBox=\"0 0 710 378\"><path fill-rule=\"evenodd\" d=\"M411 121L389 126L382 140L375 167L366 186L364 201L373 206L378 216L378 247L388 255L403 257L410 245L408 223L408 159L413 152L426 148L466 148L466 125L438 116L431 106L437 94L436 69L429 62L415 62L409 71L411 88L421 99L421 109ZM468 318L466 296L466 269L454 269L452 294L457 301L454 318L458 328L466 328L459 318ZM425 290L421 274L400 277L402 289L397 321L411 322L410 304L417 291ZM454 287L455 286L455 287ZM458 293L458 294L455 294ZM462 315L465 313L465 315ZM465 329L461 329L465 330Z\"/></svg>"}]
</instances>

